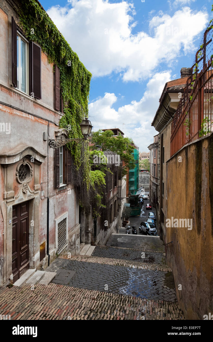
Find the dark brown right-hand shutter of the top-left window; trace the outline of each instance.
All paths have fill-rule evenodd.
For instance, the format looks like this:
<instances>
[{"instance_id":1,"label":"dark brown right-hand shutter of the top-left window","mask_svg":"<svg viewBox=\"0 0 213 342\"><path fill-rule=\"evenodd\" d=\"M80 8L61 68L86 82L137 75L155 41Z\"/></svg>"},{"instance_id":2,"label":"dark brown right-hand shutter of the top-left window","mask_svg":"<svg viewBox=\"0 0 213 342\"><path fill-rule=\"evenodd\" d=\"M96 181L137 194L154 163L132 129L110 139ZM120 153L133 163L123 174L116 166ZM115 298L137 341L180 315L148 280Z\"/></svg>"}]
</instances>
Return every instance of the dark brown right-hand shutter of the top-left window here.
<instances>
[{"instance_id":1,"label":"dark brown right-hand shutter of the top-left window","mask_svg":"<svg viewBox=\"0 0 213 342\"><path fill-rule=\"evenodd\" d=\"M34 42L29 44L29 95L41 99L41 48Z\"/></svg>"}]
</instances>

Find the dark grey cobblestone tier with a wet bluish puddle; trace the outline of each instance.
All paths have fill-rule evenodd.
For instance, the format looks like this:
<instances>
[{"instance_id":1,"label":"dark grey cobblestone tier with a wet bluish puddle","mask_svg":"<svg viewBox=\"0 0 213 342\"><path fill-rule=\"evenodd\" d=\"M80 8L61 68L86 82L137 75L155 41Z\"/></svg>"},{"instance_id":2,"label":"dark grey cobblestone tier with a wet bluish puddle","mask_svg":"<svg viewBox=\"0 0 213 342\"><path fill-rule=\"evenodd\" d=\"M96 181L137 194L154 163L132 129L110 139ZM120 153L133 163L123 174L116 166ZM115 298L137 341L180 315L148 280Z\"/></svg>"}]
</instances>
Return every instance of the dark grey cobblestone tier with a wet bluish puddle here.
<instances>
[{"instance_id":1,"label":"dark grey cobblestone tier with a wet bluish puddle","mask_svg":"<svg viewBox=\"0 0 213 342\"><path fill-rule=\"evenodd\" d=\"M176 301L175 289L164 284L167 272L61 258L53 261L46 271L57 273L52 280L56 284L146 299Z\"/></svg>"}]
</instances>

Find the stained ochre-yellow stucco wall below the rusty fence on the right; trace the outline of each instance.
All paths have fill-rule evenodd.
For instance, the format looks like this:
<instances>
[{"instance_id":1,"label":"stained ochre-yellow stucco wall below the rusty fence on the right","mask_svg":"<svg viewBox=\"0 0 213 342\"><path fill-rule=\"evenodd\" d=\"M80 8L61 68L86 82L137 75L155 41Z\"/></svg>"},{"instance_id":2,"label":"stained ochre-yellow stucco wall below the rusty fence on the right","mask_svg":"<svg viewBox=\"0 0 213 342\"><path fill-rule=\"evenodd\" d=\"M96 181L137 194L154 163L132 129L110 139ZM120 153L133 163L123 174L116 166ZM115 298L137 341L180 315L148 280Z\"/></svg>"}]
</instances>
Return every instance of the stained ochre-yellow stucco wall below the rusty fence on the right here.
<instances>
[{"instance_id":1,"label":"stained ochre-yellow stucco wall below the rusty fence on the right","mask_svg":"<svg viewBox=\"0 0 213 342\"><path fill-rule=\"evenodd\" d=\"M187 319L213 313L213 135L183 148L167 162L167 218L192 219L166 228L167 263ZM178 157L182 161L178 162ZM179 158L179 160L181 160ZM182 290L178 290L178 285Z\"/></svg>"}]
</instances>

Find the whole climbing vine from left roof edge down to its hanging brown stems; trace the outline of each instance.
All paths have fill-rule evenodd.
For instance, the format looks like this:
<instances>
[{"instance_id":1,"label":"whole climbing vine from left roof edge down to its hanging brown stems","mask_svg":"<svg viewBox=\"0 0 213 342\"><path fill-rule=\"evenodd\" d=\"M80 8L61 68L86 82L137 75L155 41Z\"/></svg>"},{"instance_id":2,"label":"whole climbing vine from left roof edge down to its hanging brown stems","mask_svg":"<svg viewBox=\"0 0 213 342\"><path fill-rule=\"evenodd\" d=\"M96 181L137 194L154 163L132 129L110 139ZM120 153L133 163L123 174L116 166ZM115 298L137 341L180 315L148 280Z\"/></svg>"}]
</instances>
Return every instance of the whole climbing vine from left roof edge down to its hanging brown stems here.
<instances>
[{"instance_id":1,"label":"whole climbing vine from left roof edge down to its hanging brown stems","mask_svg":"<svg viewBox=\"0 0 213 342\"><path fill-rule=\"evenodd\" d=\"M64 115L59 121L59 127L68 129L70 139L82 138L80 123L88 116L92 74L80 62L77 54L72 51L68 42L36 0L18 1L17 6L19 23L26 38L38 43L42 51L48 55L49 63L56 64L60 70ZM67 148L70 149L74 161L71 173L81 205L90 211L90 198L95 198L97 205L101 207L103 186L105 186L103 170L91 170L90 152L85 141L70 142Z\"/></svg>"}]
</instances>

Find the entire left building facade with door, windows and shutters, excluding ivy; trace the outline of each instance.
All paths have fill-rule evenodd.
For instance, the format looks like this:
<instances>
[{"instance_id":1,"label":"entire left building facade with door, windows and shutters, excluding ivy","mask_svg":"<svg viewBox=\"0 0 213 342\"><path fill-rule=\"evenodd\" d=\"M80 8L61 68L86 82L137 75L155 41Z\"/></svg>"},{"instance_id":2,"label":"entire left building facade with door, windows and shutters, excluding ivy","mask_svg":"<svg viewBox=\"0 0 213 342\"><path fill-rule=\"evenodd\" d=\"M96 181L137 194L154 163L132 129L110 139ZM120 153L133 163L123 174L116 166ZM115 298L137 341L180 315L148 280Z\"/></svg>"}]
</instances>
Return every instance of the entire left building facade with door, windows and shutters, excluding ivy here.
<instances>
[{"instance_id":1,"label":"entire left building facade with door, windows and shutters, excluding ivy","mask_svg":"<svg viewBox=\"0 0 213 342\"><path fill-rule=\"evenodd\" d=\"M0 3L0 285L28 268L45 269L56 253L79 253L80 224L70 179L59 70L26 39L16 4ZM55 72L54 72L55 69ZM7 129L9 128L9 129Z\"/></svg>"}]
</instances>

